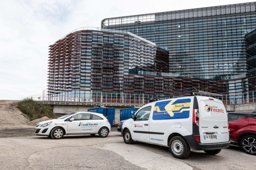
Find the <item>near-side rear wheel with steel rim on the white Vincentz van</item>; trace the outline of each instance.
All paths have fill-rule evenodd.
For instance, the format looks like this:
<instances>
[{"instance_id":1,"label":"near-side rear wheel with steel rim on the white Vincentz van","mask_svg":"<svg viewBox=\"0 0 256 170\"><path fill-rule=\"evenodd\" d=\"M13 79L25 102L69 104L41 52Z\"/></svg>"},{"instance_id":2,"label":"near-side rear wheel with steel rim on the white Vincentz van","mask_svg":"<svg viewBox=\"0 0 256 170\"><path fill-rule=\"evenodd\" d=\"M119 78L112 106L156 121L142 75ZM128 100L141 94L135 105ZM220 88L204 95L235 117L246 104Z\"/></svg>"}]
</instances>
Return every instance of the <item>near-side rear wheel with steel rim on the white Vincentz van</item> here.
<instances>
[{"instance_id":1,"label":"near-side rear wheel with steel rim on the white Vincentz van","mask_svg":"<svg viewBox=\"0 0 256 170\"><path fill-rule=\"evenodd\" d=\"M175 158L185 159L190 154L188 142L181 136L171 138L169 142L169 150Z\"/></svg>"}]
</instances>

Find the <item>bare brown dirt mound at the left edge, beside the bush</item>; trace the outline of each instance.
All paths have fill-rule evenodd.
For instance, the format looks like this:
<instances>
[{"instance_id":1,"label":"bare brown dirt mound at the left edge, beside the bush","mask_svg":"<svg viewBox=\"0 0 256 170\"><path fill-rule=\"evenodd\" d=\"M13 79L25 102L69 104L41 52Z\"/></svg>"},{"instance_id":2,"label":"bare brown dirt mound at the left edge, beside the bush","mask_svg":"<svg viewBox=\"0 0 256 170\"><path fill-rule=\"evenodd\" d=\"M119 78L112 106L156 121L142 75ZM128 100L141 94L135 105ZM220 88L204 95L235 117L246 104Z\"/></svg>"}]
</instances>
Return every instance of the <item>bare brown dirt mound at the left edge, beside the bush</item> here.
<instances>
[{"instance_id":1,"label":"bare brown dirt mound at the left edge, beside the bush","mask_svg":"<svg viewBox=\"0 0 256 170\"><path fill-rule=\"evenodd\" d=\"M21 115L21 111L16 108L19 101L0 100L0 129L5 128L26 128L30 122Z\"/></svg>"}]
</instances>

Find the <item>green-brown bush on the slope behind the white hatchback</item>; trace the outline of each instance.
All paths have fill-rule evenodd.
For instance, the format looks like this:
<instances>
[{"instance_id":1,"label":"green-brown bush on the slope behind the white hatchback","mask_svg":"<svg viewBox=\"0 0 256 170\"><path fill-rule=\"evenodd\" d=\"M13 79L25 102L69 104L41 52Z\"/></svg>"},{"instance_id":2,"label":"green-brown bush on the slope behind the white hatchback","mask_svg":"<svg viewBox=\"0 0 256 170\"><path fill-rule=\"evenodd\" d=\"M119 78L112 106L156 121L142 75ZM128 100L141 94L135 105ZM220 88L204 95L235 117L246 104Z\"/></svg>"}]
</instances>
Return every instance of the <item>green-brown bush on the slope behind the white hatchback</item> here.
<instances>
[{"instance_id":1,"label":"green-brown bush on the slope behind the white hatchback","mask_svg":"<svg viewBox=\"0 0 256 170\"><path fill-rule=\"evenodd\" d=\"M49 118L57 118L50 105L34 101L30 97L21 100L18 103L17 108L19 108L22 113L28 115L31 120L39 119L44 116Z\"/></svg>"}]
</instances>

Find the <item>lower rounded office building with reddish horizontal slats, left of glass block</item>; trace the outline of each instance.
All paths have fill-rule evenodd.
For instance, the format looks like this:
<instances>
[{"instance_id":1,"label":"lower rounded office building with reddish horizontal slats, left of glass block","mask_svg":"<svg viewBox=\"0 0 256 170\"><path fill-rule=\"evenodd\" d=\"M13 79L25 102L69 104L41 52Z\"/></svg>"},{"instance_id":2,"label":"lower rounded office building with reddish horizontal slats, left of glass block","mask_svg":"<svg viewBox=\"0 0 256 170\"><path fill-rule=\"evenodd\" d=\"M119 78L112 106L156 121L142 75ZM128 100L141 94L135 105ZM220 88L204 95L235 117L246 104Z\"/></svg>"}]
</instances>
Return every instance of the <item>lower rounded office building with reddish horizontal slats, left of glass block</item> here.
<instances>
[{"instance_id":1,"label":"lower rounded office building with reddish horizontal slats, left of glass block","mask_svg":"<svg viewBox=\"0 0 256 170\"><path fill-rule=\"evenodd\" d=\"M49 53L50 96L123 93L130 74L168 72L168 51L126 31L76 29L52 44Z\"/></svg>"}]
</instances>

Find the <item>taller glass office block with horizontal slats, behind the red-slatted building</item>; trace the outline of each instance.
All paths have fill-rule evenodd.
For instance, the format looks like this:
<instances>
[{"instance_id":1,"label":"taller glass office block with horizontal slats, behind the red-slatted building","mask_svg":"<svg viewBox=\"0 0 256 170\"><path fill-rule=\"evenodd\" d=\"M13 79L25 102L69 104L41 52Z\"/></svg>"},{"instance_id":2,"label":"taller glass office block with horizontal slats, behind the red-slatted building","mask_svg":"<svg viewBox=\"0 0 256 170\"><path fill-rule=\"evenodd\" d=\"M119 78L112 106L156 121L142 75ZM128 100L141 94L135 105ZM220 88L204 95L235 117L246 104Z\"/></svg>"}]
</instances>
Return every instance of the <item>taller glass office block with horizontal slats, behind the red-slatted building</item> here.
<instances>
[{"instance_id":1,"label":"taller glass office block with horizontal slats, behind the red-slatted building","mask_svg":"<svg viewBox=\"0 0 256 170\"><path fill-rule=\"evenodd\" d=\"M248 74L244 36L256 28L255 5L107 18L101 27L132 32L168 50L169 73L189 78L237 79Z\"/></svg>"}]
</instances>

